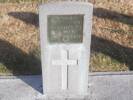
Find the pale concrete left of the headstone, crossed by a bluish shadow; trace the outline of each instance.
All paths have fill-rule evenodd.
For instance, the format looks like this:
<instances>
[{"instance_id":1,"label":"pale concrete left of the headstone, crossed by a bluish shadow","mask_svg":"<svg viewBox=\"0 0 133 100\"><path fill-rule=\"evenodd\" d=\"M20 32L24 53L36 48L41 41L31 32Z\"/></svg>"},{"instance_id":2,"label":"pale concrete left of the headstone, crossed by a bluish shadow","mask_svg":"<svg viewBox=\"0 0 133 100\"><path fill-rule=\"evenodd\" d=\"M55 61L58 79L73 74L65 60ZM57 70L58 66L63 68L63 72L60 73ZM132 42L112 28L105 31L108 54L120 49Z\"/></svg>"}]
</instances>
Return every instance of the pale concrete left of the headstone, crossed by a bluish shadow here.
<instances>
[{"instance_id":1,"label":"pale concrete left of the headstone, crossed by a bluish shadow","mask_svg":"<svg viewBox=\"0 0 133 100\"><path fill-rule=\"evenodd\" d=\"M0 100L36 100L41 84L41 76L0 77Z\"/></svg>"}]
</instances>

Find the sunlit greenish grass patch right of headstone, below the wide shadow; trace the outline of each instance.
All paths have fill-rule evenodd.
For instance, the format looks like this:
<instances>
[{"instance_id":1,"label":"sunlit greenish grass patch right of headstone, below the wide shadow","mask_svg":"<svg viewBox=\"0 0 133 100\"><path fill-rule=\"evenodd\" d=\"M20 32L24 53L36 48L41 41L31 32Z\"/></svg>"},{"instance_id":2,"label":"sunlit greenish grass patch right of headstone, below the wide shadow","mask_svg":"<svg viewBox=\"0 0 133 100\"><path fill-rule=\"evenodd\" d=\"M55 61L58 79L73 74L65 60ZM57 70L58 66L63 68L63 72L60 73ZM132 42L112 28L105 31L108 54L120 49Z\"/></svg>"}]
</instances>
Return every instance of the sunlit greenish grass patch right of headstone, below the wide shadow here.
<instances>
[{"instance_id":1,"label":"sunlit greenish grass patch right of headstone, below the wide shadow","mask_svg":"<svg viewBox=\"0 0 133 100\"><path fill-rule=\"evenodd\" d=\"M127 71L128 67L105 54L94 53L91 56L90 70L93 72Z\"/></svg>"}]
</instances>

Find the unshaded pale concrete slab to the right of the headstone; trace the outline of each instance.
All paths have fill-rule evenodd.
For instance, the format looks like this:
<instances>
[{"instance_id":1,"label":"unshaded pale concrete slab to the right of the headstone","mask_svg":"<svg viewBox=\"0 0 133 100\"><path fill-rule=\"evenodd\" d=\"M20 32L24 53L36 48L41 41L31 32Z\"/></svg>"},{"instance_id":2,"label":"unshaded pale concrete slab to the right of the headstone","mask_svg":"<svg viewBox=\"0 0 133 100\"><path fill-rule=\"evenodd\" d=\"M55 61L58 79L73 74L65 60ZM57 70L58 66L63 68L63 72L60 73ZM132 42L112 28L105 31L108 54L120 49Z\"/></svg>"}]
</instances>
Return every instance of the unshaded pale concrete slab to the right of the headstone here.
<instances>
[{"instance_id":1,"label":"unshaded pale concrete slab to the right of the headstone","mask_svg":"<svg viewBox=\"0 0 133 100\"><path fill-rule=\"evenodd\" d=\"M90 100L133 100L133 73L93 73Z\"/></svg>"}]
</instances>

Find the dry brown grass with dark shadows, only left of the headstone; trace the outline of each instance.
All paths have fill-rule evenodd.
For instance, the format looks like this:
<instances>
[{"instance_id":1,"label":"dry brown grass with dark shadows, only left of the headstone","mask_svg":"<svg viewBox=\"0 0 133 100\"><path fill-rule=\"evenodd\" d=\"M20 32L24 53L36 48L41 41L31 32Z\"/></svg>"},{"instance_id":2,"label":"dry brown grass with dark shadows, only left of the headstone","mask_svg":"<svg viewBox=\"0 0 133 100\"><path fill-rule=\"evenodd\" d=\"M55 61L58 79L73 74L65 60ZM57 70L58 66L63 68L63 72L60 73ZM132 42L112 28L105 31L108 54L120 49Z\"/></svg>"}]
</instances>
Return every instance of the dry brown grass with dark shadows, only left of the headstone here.
<instances>
[{"instance_id":1,"label":"dry brown grass with dark shadows, only left of the headstone","mask_svg":"<svg viewBox=\"0 0 133 100\"><path fill-rule=\"evenodd\" d=\"M0 73L40 74L37 4L0 4Z\"/></svg>"}]
</instances>

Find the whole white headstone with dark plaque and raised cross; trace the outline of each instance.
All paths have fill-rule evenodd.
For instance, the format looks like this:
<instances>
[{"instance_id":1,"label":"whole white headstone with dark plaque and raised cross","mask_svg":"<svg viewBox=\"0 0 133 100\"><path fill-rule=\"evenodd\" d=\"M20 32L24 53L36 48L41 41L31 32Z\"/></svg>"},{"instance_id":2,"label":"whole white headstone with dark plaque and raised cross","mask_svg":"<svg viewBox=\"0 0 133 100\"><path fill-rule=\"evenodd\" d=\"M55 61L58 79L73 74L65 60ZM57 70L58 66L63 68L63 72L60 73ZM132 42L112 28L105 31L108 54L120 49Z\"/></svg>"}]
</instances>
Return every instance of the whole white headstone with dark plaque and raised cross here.
<instances>
[{"instance_id":1,"label":"whole white headstone with dark plaque and raised cross","mask_svg":"<svg viewBox=\"0 0 133 100\"><path fill-rule=\"evenodd\" d=\"M46 96L88 94L93 6L47 3L39 8L43 92Z\"/></svg>"}]
</instances>

